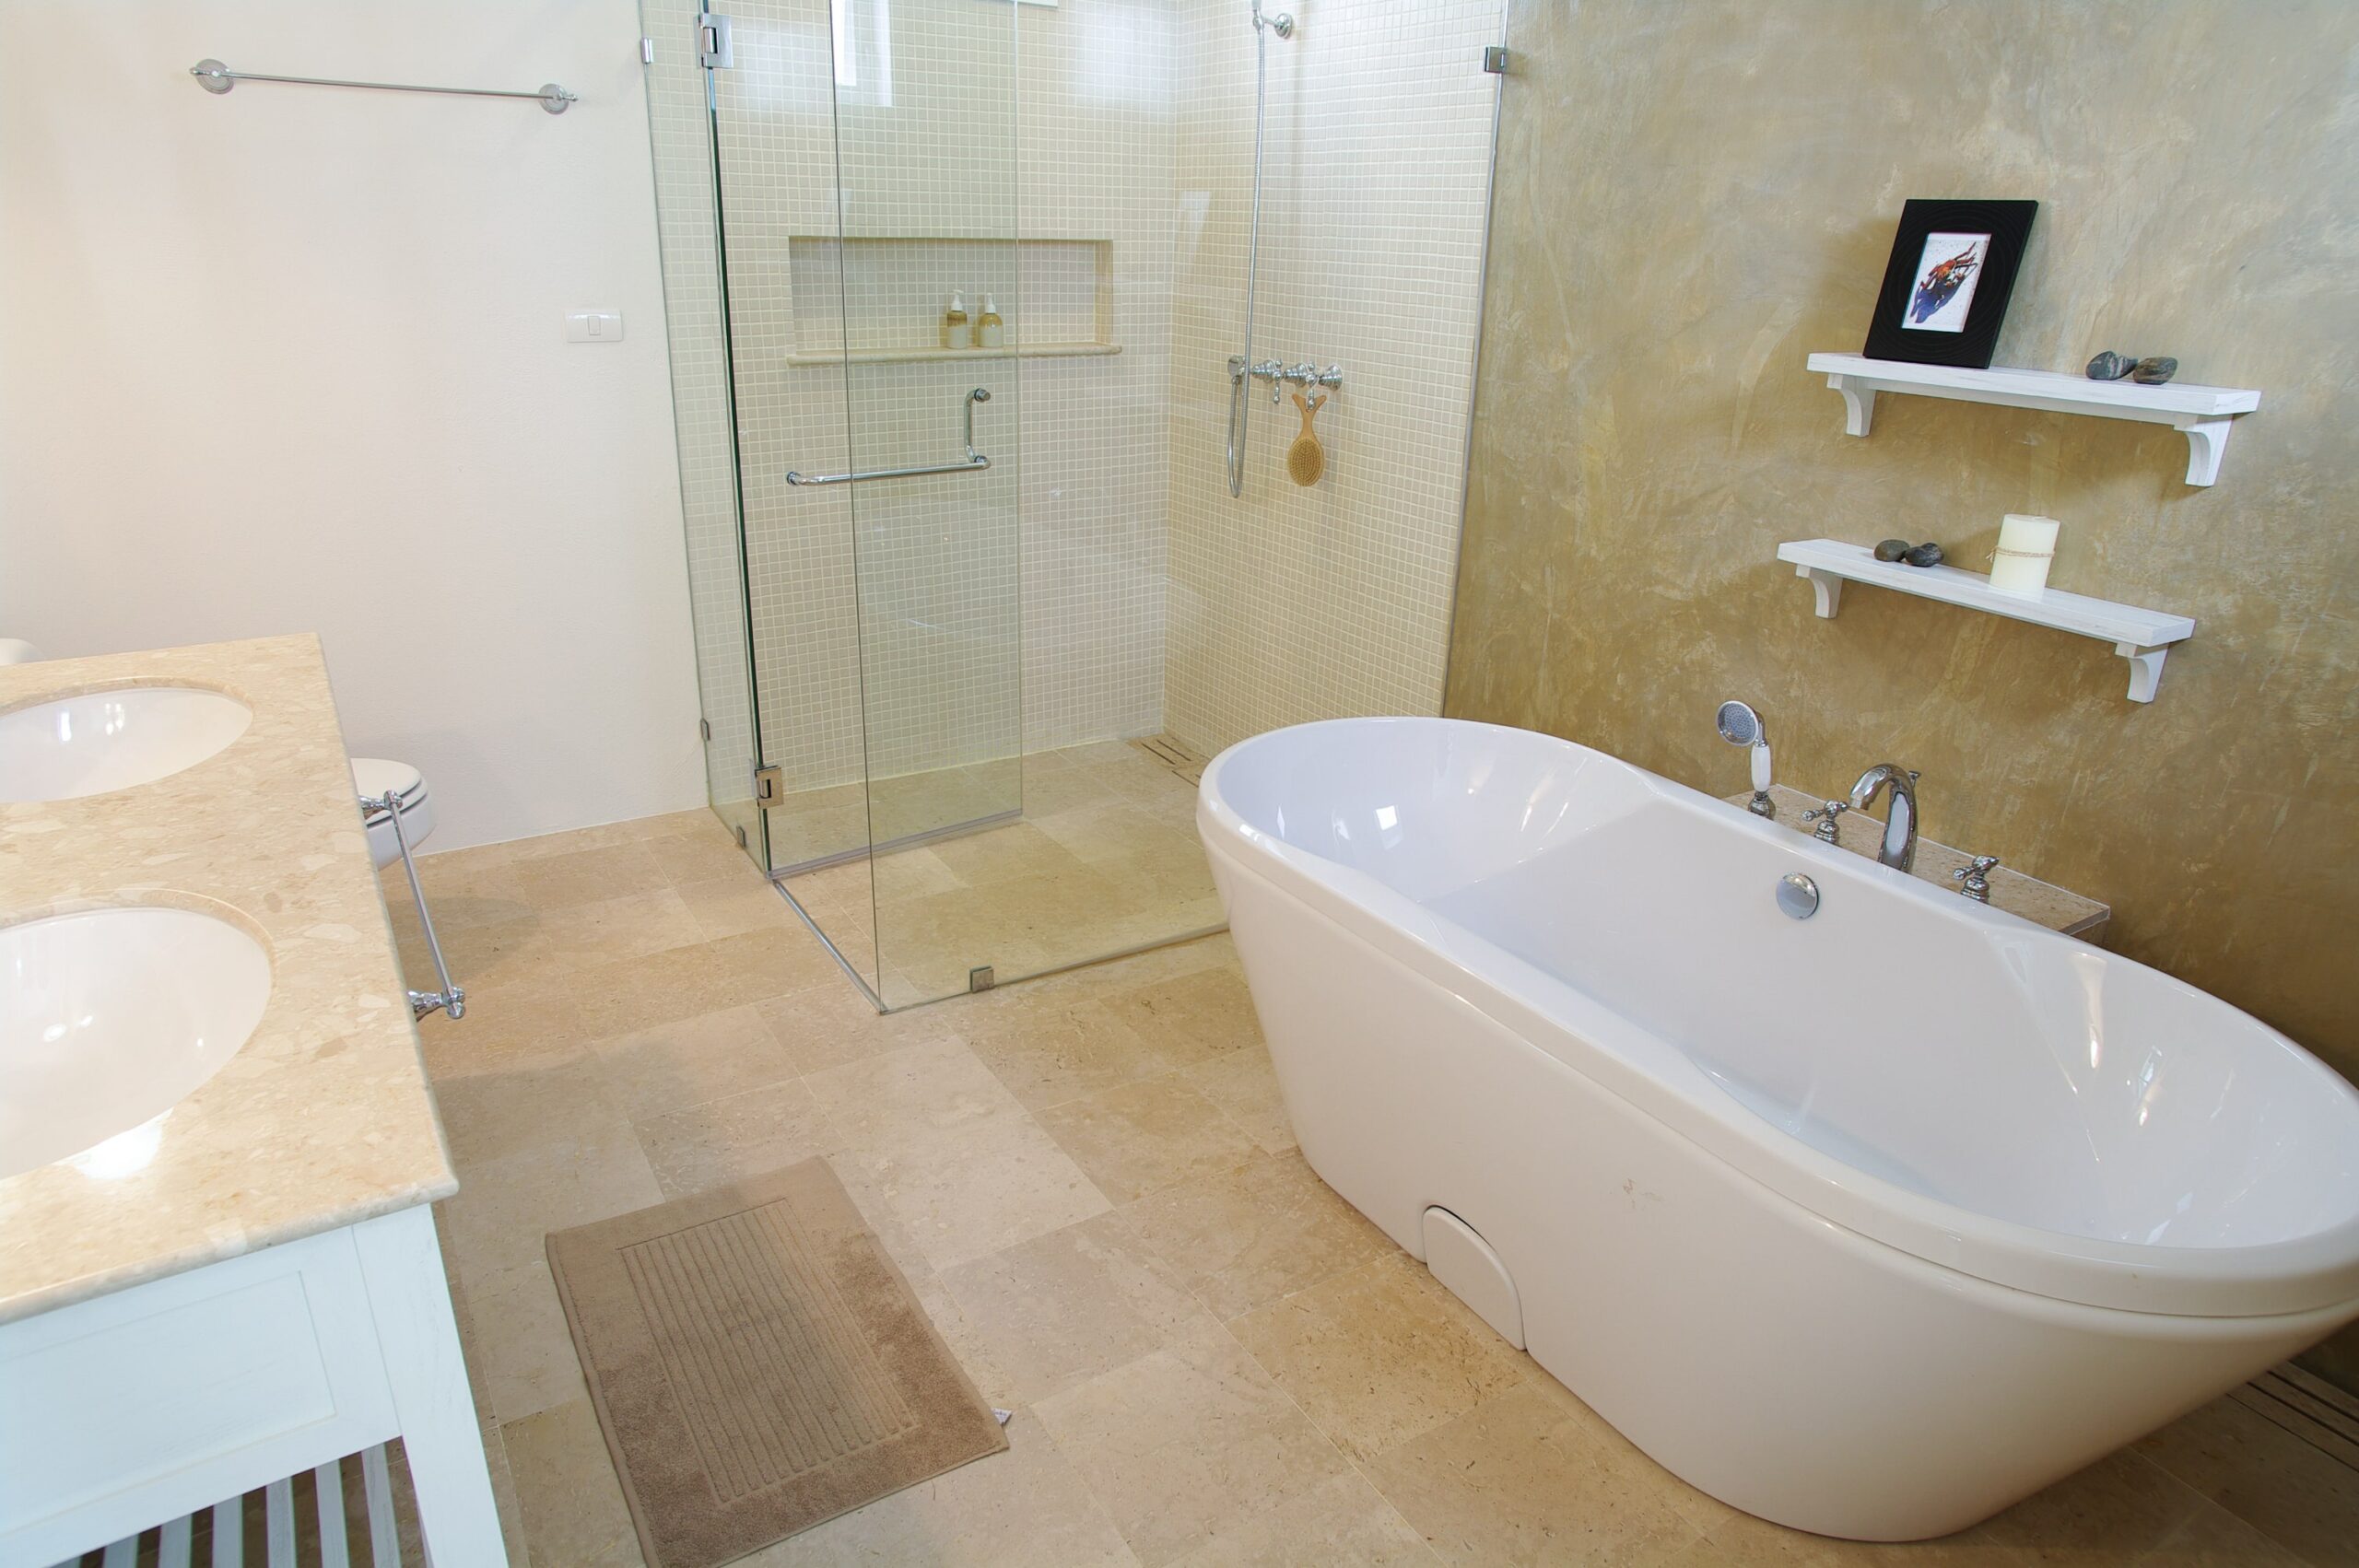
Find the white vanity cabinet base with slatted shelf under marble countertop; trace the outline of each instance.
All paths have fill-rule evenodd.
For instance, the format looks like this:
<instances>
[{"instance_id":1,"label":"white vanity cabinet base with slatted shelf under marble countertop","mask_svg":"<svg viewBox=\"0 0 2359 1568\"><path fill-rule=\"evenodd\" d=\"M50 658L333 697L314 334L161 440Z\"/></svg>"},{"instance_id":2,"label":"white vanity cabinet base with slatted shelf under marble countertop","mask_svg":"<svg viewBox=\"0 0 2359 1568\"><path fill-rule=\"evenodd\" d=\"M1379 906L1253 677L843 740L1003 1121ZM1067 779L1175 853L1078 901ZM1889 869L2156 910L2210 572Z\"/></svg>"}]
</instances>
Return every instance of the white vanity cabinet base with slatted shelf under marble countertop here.
<instances>
[{"instance_id":1,"label":"white vanity cabinet base with slatted shelf under marble countertop","mask_svg":"<svg viewBox=\"0 0 2359 1568\"><path fill-rule=\"evenodd\" d=\"M505 1563L422 1205L0 1325L0 1568L156 1526L170 1561L175 1521L396 1436L434 1568Z\"/></svg>"}]
</instances>

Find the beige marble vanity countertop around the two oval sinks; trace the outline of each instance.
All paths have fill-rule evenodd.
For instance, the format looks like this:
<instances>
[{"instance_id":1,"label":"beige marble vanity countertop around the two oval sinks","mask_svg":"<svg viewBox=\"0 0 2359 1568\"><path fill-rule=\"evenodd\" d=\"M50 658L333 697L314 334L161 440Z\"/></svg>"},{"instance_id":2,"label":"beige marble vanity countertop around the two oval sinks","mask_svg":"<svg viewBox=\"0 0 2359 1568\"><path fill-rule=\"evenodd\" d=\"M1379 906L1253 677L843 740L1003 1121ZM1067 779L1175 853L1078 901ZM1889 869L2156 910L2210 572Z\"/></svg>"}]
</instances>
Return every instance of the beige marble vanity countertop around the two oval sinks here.
<instances>
[{"instance_id":1,"label":"beige marble vanity countertop around the two oval sinks","mask_svg":"<svg viewBox=\"0 0 2359 1568\"><path fill-rule=\"evenodd\" d=\"M0 924L203 910L264 943L271 997L144 1165L0 1179L0 1323L458 1191L318 639L9 665L0 712L111 686L208 686L255 717L170 778L0 804Z\"/></svg>"}]
</instances>

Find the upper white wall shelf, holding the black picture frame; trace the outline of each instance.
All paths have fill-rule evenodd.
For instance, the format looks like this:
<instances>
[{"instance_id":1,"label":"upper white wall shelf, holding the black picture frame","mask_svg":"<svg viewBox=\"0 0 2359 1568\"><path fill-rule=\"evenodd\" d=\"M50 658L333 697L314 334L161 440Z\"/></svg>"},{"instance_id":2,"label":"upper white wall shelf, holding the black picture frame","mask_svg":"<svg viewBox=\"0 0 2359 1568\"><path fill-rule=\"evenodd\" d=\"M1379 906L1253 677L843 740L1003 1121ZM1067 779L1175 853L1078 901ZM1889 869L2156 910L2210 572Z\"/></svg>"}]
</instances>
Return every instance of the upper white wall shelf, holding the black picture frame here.
<instances>
[{"instance_id":1,"label":"upper white wall shelf, holding the black picture frame","mask_svg":"<svg viewBox=\"0 0 2359 1568\"><path fill-rule=\"evenodd\" d=\"M1809 368L1842 394L1842 429L1866 436L1875 424L1875 394L1906 391L1920 398L1960 403L2000 403L2005 408L2043 408L2081 413L2100 420L2144 420L2168 424L2187 436L2187 483L2208 486L2220 479L2220 457L2236 415L2260 408L2260 394L2248 387L2140 387L2137 382L2092 382L2055 370L1963 370L1958 365L1908 365L1866 354L1812 354Z\"/></svg>"}]
</instances>

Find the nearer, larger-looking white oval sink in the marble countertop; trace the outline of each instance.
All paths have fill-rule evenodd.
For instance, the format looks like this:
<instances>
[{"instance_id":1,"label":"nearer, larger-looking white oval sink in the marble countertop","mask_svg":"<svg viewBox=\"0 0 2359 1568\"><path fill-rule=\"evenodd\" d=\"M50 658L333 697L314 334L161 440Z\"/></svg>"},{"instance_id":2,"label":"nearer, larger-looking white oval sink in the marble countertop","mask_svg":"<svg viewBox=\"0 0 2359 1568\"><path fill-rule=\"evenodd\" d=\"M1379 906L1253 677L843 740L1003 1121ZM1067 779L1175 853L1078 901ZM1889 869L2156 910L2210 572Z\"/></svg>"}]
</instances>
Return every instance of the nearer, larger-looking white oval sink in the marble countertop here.
<instances>
[{"instance_id":1,"label":"nearer, larger-looking white oval sink in the marble countertop","mask_svg":"<svg viewBox=\"0 0 2359 1568\"><path fill-rule=\"evenodd\" d=\"M193 910L0 927L0 1177L156 1120L238 1054L271 995L252 936Z\"/></svg>"}]
</instances>

